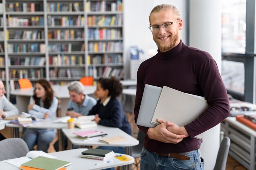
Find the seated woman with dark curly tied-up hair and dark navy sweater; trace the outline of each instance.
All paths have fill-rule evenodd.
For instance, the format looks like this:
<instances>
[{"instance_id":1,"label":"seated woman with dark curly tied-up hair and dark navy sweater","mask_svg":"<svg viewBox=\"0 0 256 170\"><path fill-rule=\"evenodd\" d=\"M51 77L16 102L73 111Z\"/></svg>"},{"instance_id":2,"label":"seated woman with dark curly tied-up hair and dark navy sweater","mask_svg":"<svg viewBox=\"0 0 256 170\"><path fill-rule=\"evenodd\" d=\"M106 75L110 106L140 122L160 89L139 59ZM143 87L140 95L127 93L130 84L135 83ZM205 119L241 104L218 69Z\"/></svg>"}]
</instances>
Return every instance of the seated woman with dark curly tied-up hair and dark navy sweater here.
<instances>
[{"instance_id":1,"label":"seated woman with dark curly tied-up hair and dark navy sweater","mask_svg":"<svg viewBox=\"0 0 256 170\"><path fill-rule=\"evenodd\" d=\"M117 99L122 91L123 85L117 78L100 78L97 89L94 92L95 98L99 98L99 100L88 115L95 115L94 121L97 124L117 127L131 135L132 130L130 123L124 113L121 102ZM125 154L126 151L125 147L100 146L99 148L113 150L114 152L123 154ZM114 170L114 168L110 169Z\"/></svg>"}]
</instances>

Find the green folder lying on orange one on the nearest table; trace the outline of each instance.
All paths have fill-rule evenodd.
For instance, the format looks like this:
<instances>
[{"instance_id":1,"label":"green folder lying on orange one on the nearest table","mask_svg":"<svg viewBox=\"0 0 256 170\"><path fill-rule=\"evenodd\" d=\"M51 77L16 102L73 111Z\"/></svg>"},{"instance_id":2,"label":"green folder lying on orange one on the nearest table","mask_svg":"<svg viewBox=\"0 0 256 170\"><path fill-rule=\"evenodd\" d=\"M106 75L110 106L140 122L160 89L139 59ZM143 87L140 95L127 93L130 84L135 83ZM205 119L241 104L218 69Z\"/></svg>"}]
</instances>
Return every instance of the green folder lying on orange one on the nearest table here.
<instances>
[{"instance_id":1,"label":"green folder lying on orange one on the nearest table","mask_svg":"<svg viewBox=\"0 0 256 170\"><path fill-rule=\"evenodd\" d=\"M23 163L22 166L28 166L43 170L57 170L61 167L68 166L70 164L71 162L39 156L32 159L31 161Z\"/></svg>"}]
</instances>

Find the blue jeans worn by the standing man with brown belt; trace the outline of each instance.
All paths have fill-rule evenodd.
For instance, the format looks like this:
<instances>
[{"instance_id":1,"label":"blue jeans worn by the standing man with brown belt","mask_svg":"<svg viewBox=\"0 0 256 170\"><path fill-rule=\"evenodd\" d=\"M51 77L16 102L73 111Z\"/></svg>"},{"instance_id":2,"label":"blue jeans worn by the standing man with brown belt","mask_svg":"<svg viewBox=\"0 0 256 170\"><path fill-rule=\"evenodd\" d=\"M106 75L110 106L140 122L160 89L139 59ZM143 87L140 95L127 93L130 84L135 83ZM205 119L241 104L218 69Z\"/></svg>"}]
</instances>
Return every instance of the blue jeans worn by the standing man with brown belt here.
<instances>
[{"instance_id":1,"label":"blue jeans worn by the standing man with brown belt","mask_svg":"<svg viewBox=\"0 0 256 170\"><path fill-rule=\"evenodd\" d=\"M180 153L190 157L189 160L179 160L157 155L145 148L141 151L140 170L204 170L204 159L200 150Z\"/></svg>"}]
</instances>

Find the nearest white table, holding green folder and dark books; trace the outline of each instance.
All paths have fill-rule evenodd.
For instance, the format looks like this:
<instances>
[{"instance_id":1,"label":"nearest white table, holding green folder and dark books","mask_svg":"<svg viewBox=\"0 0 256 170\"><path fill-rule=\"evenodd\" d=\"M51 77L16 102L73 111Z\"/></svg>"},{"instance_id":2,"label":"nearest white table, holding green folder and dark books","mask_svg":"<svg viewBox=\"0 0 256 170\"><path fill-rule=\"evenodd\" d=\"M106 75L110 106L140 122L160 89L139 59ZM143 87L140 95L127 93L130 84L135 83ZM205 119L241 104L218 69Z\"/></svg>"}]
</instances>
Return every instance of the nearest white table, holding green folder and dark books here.
<instances>
[{"instance_id":1,"label":"nearest white table, holding green folder and dark books","mask_svg":"<svg viewBox=\"0 0 256 170\"><path fill-rule=\"evenodd\" d=\"M126 157L130 158L130 161L120 161L119 159L115 157L108 158L106 160L113 160L112 163L103 163L101 165L95 165L95 163L100 163L103 161L94 160L94 159L85 159L81 158L81 152L83 152L85 149L72 149L72 150L65 150L60 152L53 152L49 153L50 155L53 155L57 157L56 159L60 159L63 161L69 161L72 162L71 165L66 166L68 170L101 170L105 168L112 168L116 166L124 166L128 164L132 164L134 162L134 158L125 155ZM116 154L119 155L119 154ZM124 155L124 154L122 154ZM19 170L20 168L13 166L5 161L0 161L0 167L1 170ZM123 168L123 167L122 167ZM125 168L125 167L124 167Z\"/></svg>"}]
</instances>

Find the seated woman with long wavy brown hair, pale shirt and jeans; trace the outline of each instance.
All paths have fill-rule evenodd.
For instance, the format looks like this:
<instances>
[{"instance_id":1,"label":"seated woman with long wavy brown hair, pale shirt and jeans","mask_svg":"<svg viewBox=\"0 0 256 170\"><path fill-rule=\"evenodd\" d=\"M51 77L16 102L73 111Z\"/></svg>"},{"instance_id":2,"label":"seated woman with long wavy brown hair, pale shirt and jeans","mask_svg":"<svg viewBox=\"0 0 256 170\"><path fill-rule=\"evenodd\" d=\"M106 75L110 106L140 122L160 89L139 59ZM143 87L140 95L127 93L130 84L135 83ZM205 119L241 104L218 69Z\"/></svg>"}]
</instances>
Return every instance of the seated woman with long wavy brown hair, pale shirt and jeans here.
<instances>
[{"instance_id":1,"label":"seated woman with long wavy brown hair, pale shirt and jeans","mask_svg":"<svg viewBox=\"0 0 256 170\"><path fill-rule=\"evenodd\" d=\"M58 99L54 97L51 85L45 79L36 81L34 95L30 98L28 113L40 119L56 117ZM27 143L29 150L37 144L37 150L47 152L50 142L54 139L54 129L27 128L22 139Z\"/></svg>"}]
</instances>

